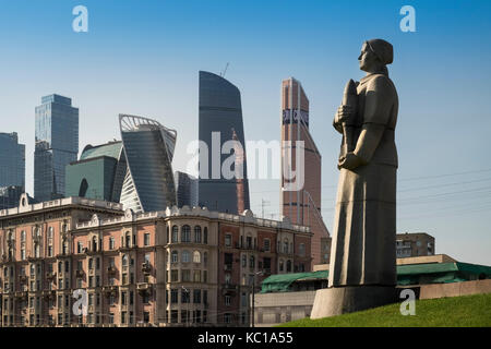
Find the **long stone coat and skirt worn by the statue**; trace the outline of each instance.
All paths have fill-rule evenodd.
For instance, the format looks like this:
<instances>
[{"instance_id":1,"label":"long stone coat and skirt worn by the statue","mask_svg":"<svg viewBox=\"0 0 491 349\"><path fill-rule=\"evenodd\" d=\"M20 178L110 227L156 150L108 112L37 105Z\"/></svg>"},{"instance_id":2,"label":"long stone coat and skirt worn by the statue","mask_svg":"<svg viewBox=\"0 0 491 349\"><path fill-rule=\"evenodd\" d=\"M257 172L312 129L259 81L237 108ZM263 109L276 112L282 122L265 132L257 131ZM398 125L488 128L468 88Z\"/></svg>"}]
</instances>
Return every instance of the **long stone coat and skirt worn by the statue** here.
<instances>
[{"instance_id":1,"label":"long stone coat and skirt worn by the statue","mask_svg":"<svg viewBox=\"0 0 491 349\"><path fill-rule=\"evenodd\" d=\"M339 172L328 285L394 286L397 92L386 74L374 73L357 94L354 153L366 165ZM343 133L337 120L334 128Z\"/></svg>"}]
</instances>

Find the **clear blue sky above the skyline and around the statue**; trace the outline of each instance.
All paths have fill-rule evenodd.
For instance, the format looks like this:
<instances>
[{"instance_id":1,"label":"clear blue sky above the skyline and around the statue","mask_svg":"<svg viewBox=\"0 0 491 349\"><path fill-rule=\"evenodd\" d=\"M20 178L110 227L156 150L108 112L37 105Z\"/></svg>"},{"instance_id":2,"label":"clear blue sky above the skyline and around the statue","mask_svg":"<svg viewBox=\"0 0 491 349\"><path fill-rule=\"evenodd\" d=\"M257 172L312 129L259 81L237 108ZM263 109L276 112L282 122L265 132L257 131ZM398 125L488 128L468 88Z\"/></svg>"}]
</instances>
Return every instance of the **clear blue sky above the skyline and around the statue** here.
<instances>
[{"instance_id":1,"label":"clear blue sky above the skyline and around the statue","mask_svg":"<svg viewBox=\"0 0 491 349\"><path fill-rule=\"evenodd\" d=\"M72 9L88 9L88 33ZM416 9L416 33L399 10ZM119 139L120 112L178 130L175 169L197 137L197 71L242 93L247 140L279 139L279 86L298 79L323 155L324 220L332 229L339 135L332 118L363 40L394 45L400 99L397 229L427 231L436 252L491 265L491 2L489 1L0 1L0 131L26 144L33 189L34 108L58 93L80 108L80 147ZM251 181L251 205L279 214L278 181Z\"/></svg>"}]
</instances>

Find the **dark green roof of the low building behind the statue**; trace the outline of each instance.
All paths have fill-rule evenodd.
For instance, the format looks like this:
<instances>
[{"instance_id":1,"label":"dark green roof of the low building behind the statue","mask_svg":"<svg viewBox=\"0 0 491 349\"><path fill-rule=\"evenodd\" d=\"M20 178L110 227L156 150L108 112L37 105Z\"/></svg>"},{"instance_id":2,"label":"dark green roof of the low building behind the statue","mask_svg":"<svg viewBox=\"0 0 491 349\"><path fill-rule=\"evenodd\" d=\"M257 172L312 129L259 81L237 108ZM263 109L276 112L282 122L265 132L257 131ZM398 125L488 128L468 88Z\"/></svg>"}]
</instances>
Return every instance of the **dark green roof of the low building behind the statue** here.
<instances>
[{"instance_id":1,"label":"dark green roof of the low building behind the statue","mask_svg":"<svg viewBox=\"0 0 491 349\"><path fill-rule=\"evenodd\" d=\"M482 275L491 278L491 267L459 262L398 265L397 285L458 282L478 279ZM328 270L276 274L264 279L261 293L288 292L295 281L327 278Z\"/></svg>"}]
</instances>

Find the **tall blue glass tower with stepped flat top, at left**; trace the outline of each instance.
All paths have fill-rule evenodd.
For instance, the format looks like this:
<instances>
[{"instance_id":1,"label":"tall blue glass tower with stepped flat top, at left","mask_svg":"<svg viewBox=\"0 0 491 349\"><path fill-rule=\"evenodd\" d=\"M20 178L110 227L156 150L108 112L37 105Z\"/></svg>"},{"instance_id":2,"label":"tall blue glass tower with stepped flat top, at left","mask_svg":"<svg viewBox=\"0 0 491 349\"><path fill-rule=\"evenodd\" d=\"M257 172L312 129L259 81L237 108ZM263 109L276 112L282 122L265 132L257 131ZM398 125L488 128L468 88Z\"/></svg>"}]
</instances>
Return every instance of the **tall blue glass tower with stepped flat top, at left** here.
<instances>
[{"instance_id":1,"label":"tall blue glass tower with stepped flat top, at left","mask_svg":"<svg viewBox=\"0 0 491 349\"><path fill-rule=\"evenodd\" d=\"M59 95L41 98L36 107L34 197L49 201L64 196L67 165L79 154L79 108Z\"/></svg>"}]
</instances>

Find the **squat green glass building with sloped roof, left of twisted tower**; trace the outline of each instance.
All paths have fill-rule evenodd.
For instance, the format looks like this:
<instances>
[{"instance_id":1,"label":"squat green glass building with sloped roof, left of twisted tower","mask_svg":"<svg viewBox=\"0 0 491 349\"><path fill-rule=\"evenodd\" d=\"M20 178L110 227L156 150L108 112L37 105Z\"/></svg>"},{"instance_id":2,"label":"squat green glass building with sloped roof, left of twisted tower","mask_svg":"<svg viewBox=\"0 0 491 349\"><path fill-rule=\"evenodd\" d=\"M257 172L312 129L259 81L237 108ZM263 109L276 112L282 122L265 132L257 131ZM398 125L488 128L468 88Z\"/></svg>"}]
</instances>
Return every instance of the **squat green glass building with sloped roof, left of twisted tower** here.
<instances>
[{"instance_id":1,"label":"squat green glass building with sloped roof, left of twisted tower","mask_svg":"<svg viewBox=\"0 0 491 349\"><path fill-rule=\"evenodd\" d=\"M67 166L67 196L119 203L125 173L122 142L87 145L80 160Z\"/></svg>"}]
</instances>

